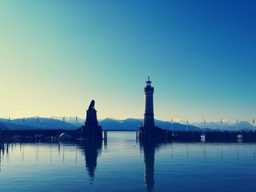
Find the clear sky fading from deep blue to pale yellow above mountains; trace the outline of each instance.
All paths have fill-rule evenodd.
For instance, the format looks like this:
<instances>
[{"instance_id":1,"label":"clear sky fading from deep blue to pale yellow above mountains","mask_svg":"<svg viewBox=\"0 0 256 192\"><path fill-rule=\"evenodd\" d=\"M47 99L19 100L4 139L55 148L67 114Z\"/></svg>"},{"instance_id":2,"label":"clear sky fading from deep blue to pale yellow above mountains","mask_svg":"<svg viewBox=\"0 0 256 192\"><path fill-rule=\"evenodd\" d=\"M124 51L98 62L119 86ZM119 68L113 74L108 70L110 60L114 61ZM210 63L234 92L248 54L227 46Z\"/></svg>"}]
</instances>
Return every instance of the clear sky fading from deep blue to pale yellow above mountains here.
<instances>
[{"instance_id":1,"label":"clear sky fading from deep blue to pale yellow above mountains","mask_svg":"<svg viewBox=\"0 0 256 192\"><path fill-rule=\"evenodd\" d=\"M0 117L256 118L256 1L0 1Z\"/></svg>"}]
</instances>

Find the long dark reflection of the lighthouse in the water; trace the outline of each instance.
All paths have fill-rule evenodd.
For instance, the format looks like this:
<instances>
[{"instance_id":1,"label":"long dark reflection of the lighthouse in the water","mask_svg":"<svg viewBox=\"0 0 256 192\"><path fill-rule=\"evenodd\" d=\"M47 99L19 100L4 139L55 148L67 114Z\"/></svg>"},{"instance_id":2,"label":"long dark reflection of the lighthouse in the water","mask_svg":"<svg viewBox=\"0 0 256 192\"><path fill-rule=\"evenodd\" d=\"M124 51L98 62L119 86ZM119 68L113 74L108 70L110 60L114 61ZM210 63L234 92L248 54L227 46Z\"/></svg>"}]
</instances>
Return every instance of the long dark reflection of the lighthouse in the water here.
<instances>
[{"instance_id":1,"label":"long dark reflection of the lighthouse in the water","mask_svg":"<svg viewBox=\"0 0 256 192\"><path fill-rule=\"evenodd\" d=\"M154 153L158 149L157 142L140 142L144 153L144 182L147 191L154 190Z\"/></svg>"}]
</instances>

